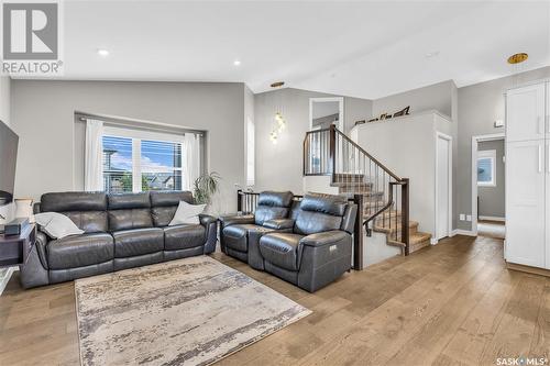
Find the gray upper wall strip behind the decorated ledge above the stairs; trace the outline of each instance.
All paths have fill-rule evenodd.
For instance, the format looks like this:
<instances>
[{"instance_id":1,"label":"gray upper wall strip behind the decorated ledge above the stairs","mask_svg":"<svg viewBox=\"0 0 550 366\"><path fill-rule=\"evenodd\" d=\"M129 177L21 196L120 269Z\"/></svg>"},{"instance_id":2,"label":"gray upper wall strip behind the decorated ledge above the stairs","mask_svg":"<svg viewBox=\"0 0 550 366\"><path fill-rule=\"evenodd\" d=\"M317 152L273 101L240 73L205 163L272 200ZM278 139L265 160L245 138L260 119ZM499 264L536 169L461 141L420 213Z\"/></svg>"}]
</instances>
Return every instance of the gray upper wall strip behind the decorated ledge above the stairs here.
<instances>
[{"instance_id":1,"label":"gray upper wall strip behind the decorated ledge above the stairs","mask_svg":"<svg viewBox=\"0 0 550 366\"><path fill-rule=\"evenodd\" d=\"M448 80L427 87L413 89L397 95L375 99L373 101L373 117L382 113L395 113L410 106L410 113L418 113L435 109L454 120L453 90L454 81Z\"/></svg>"}]
</instances>

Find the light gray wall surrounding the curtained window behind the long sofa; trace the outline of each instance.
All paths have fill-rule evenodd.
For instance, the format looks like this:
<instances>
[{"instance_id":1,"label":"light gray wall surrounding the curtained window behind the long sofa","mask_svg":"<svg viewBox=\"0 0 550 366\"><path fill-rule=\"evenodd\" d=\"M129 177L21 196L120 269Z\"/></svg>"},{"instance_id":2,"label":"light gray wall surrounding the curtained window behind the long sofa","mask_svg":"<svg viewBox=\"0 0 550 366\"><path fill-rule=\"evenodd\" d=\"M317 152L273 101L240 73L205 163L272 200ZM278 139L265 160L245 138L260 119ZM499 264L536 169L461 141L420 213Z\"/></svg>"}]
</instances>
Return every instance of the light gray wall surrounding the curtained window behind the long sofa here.
<instances>
[{"instance_id":1,"label":"light gray wall surrounding the curtained window behind the long sofa","mask_svg":"<svg viewBox=\"0 0 550 366\"><path fill-rule=\"evenodd\" d=\"M208 169L222 177L215 209L237 209L234 184L244 184L245 171L243 84L12 80L11 87L16 196L81 189L74 120L80 111L207 130Z\"/></svg>"}]
</instances>

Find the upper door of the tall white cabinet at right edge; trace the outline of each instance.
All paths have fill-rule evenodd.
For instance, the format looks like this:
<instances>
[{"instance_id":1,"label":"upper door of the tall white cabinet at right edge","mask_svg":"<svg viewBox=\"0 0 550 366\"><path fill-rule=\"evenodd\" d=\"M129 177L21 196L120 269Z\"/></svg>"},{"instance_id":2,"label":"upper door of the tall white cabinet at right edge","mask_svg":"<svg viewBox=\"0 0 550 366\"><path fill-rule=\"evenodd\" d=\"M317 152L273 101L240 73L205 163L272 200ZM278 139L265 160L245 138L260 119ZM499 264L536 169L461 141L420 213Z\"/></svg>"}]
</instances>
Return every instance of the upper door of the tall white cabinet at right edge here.
<instances>
[{"instance_id":1,"label":"upper door of the tall white cabinet at right edge","mask_svg":"<svg viewBox=\"0 0 550 366\"><path fill-rule=\"evenodd\" d=\"M506 93L506 140L544 138L544 84L512 89Z\"/></svg>"}]
</instances>

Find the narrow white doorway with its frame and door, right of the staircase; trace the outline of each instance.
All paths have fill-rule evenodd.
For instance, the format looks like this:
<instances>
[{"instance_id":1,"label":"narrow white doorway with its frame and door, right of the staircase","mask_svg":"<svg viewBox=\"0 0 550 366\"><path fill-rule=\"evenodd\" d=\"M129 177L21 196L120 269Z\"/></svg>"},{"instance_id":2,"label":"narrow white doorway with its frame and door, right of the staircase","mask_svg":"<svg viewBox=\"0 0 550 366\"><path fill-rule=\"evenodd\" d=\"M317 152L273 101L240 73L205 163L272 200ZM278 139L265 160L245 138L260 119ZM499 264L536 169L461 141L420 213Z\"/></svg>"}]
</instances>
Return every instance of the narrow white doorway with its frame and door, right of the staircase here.
<instances>
[{"instance_id":1,"label":"narrow white doorway with its frame and door, right of the staircase","mask_svg":"<svg viewBox=\"0 0 550 366\"><path fill-rule=\"evenodd\" d=\"M447 237L452 228L452 137L436 136L436 239Z\"/></svg>"}]
</instances>

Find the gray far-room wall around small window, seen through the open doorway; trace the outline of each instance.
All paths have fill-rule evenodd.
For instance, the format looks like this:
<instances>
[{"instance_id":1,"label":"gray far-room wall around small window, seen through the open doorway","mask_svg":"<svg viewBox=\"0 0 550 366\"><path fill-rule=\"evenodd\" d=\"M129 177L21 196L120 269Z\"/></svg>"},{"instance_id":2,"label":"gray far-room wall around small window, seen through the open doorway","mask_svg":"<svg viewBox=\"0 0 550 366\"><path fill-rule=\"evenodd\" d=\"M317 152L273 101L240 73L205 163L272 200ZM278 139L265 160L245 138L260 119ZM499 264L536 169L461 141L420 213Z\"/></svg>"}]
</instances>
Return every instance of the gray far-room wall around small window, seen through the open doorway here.
<instances>
[{"instance_id":1,"label":"gray far-room wall around small window, seen through the open doorway","mask_svg":"<svg viewBox=\"0 0 550 366\"><path fill-rule=\"evenodd\" d=\"M505 215L505 178L504 178L504 138L495 141L483 141L477 144L477 151L496 151L495 178L496 187L477 187L480 206L477 208L481 217L504 218Z\"/></svg>"}]
</instances>

